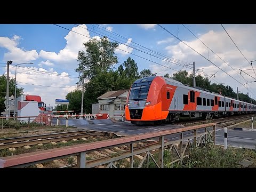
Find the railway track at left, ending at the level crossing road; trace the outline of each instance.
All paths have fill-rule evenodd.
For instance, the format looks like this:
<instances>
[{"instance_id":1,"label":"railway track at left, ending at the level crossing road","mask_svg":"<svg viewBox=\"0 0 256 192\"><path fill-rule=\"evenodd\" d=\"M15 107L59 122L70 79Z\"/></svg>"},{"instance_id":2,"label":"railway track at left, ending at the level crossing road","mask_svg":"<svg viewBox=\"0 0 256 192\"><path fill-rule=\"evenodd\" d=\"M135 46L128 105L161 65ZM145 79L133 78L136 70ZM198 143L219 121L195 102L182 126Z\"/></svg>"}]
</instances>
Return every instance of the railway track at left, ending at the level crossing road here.
<instances>
[{"instance_id":1,"label":"railway track at left, ending at the level crossing road","mask_svg":"<svg viewBox=\"0 0 256 192\"><path fill-rule=\"evenodd\" d=\"M51 142L68 141L73 139L87 140L87 138L89 137L97 138L102 136L110 136L110 133L92 131L70 131L62 133L33 135L28 137L7 138L0 139L0 150L6 148L33 146L38 145L39 143L44 144Z\"/></svg>"}]
</instances>

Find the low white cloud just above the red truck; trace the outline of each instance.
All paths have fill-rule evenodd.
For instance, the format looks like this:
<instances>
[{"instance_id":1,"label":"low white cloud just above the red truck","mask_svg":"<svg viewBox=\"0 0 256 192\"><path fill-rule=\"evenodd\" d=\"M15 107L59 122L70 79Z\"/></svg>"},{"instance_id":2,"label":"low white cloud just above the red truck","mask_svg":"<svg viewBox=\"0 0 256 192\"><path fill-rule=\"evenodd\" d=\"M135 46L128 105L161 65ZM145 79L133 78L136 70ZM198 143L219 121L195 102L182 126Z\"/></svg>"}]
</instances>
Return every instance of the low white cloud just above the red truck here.
<instances>
[{"instance_id":1,"label":"low white cloud just above the red truck","mask_svg":"<svg viewBox=\"0 0 256 192\"><path fill-rule=\"evenodd\" d=\"M57 76L54 74L46 74L46 73L38 73L38 71L45 71L54 74L60 75L68 75L67 72L63 71L62 73L57 73L53 68L46 70L44 68L37 67L25 67L25 68L17 68L17 82L18 87L25 88L25 94L33 94L39 95L42 98L42 101L46 103L46 106L55 105L55 99L65 99L67 93L69 91L73 91L76 89L77 78L69 77L69 76ZM15 77L15 68L10 67L10 78ZM29 84L35 85L29 85ZM44 86L54 86L54 87L44 87L44 86L36 86L36 85L44 85ZM57 87L65 87L65 88L57 88Z\"/></svg>"}]
</instances>

